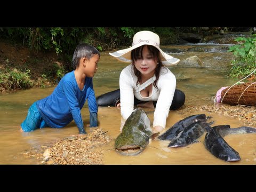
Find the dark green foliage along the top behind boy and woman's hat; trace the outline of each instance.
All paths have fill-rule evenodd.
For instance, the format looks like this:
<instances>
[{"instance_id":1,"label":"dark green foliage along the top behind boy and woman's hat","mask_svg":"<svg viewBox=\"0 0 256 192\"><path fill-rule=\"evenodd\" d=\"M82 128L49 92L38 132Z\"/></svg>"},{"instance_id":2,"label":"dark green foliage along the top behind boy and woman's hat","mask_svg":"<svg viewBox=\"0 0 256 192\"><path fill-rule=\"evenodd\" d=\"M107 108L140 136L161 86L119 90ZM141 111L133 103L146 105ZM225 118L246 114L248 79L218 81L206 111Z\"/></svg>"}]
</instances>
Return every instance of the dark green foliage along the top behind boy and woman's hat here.
<instances>
[{"instance_id":1,"label":"dark green foliage along the top behind boy and woman's hat","mask_svg":"<svg viewBox=\"0 0 256 192\"><path fill-rule=\"evenodd\" d=\"M151 30L157 33L161 42L175 42L173 28L167 27L23 27L1 28L0 37L13 42L23 42L31 50L54 51L61 56L70 58L79 43L89 43L101 47L101 51L115 49L117 45L128 46L133 35L141 30ZM162 41L163 40L163 41ZM161 43L161 44L162 44ZM70 62L70 61L68 61Z\"/></svg>"}]
</instances>

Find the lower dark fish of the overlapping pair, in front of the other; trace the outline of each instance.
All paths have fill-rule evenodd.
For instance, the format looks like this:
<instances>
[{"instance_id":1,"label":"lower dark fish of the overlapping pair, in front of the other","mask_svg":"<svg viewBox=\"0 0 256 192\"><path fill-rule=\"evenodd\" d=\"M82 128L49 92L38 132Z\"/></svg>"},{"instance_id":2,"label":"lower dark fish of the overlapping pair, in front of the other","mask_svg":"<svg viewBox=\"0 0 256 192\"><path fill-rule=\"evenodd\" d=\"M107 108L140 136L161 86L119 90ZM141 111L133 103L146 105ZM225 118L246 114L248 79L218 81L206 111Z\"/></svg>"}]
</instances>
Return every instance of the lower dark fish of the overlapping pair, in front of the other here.
<instances>
[{"instance_id":1,"label":"lower dark fish of the overlapping pair, in front of the other","mask_svg":"<svg viewBox=\"0 0 256 192\"><path fill-rule=\"evenodd\" d=\"M205 127L207 126L210 125L206 122L194 122L188 125L170 142L168 147L185 147L197 142L197 139L204 134Z\"/></svg>"}]
</instances>

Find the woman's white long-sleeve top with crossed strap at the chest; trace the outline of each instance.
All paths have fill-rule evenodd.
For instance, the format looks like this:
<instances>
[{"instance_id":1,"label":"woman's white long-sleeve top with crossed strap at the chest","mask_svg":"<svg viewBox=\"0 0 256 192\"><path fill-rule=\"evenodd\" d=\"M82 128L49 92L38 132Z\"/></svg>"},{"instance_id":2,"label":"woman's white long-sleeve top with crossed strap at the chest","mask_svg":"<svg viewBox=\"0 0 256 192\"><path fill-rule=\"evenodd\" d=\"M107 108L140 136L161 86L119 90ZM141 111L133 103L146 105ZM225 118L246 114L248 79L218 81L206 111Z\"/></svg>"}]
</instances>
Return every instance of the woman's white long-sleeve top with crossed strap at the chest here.
<instances>
[{"instance_id":1,"label":"woman's white long-sleeve top with crossed strap at the chest","mask_svg":"<svg viewBox=\"0 0 256 192\"><path fill-rule=\"evenodd\" d=\"M136 85L138 77L135 76L133 65L124 68L120 74L120 99L121 99L121 115L126 120L134 110L134 96L140 101L157 101L154 111L154 126L162 126L165 128L166 118L169 115L170 106L172 104L173 95L176 88L176 78L173 73L166 67L161 68L157 81L157 87L153 87L152 94L149 97L142 97L140 91L155 81L154 77L150 78L143 84Z\"/></svg>"}]
</instances>

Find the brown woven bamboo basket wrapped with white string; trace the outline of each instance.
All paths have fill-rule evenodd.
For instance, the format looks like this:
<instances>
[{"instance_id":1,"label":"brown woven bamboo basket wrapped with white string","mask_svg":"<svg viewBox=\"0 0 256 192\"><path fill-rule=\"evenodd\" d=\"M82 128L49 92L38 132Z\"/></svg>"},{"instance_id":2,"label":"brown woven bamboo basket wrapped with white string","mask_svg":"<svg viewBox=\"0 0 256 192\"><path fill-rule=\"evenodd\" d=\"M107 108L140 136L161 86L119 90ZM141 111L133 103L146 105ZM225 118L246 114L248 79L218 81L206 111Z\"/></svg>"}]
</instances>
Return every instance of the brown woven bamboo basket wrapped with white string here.
<instances>
[{"instance_id":1,"label":"brown woven bamboo basket wrapped with white string","mask_svg":"<svg viewBox=\"0 0 256 192\"><path fill-rule=\"evenodd\" d=\"M256 82L234 85L221 91L222 103L256 106Z\"/></svg>"}]
</instances>

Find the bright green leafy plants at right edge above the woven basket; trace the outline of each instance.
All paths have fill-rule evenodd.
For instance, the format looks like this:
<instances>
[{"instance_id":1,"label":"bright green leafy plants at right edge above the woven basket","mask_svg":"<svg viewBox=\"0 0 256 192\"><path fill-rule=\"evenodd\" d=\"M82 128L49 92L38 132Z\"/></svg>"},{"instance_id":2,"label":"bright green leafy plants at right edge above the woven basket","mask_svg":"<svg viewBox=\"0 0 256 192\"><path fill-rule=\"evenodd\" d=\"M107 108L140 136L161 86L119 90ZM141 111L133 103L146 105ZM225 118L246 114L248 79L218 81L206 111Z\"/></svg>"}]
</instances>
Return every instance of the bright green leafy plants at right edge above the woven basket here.
<instances>
[{"instance_id":1,"label":"bright green leafy plants at right edge above the woven basket","mask_svg":"<svg viewBox=\"0 0 256 192\"><path fill-rule=\"evenodd\" d=\"M238 37L238 44L229 47L228 52L233 52L235 59L231 61L228 76L244 78L256 69L256 35L252 37Z\"/></svg>"}]
</instances>

